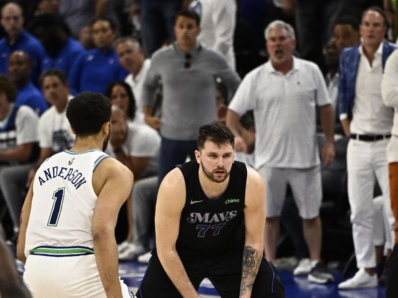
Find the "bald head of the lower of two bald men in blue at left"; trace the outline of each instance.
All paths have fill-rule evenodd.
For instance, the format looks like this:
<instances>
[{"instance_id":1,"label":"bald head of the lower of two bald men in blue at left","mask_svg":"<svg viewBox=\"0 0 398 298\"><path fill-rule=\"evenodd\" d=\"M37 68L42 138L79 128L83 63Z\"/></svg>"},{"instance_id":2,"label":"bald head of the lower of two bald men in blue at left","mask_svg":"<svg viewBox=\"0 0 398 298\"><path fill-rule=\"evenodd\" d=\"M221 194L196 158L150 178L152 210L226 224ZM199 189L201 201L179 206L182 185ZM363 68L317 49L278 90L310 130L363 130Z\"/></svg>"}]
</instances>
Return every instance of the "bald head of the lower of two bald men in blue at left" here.
<instances>
[{"instance_id":1,"label":"bald head of the lower of two bald men in blue at left","mask_svg":"<svg viewBox=\"0 0 398 298\"><path fill-rule=\"evenodd\" d=\"M23 51L14 51L8 58L8 74L19 87L29 81L30 58Z\"/></svg>"}]
</instances>

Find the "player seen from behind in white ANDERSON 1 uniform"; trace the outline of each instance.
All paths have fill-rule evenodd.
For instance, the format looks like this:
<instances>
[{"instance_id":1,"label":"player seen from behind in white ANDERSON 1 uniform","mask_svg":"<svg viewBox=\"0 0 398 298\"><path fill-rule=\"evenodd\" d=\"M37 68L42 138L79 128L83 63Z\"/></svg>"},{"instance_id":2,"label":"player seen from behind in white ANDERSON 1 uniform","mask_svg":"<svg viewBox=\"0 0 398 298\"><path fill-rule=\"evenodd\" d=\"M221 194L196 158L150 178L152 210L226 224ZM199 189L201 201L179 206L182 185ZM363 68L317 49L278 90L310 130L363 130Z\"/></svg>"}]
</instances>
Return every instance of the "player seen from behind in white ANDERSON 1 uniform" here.
<instances>
[{"instance_id":1,"label":"player seen from behind in white ANDERSON 1 uniform","mask_svg":"<svg viewBox=\"0 0 398 298\"><path fill-rule=\"evenodd\" d=\"M46 159L21 212L17 256L33 298L132 298L118 275L114 228L133 174L106 155L111 104L84 92L66 116L76 134L70 150Z\"/></svg>"}]
</instances>

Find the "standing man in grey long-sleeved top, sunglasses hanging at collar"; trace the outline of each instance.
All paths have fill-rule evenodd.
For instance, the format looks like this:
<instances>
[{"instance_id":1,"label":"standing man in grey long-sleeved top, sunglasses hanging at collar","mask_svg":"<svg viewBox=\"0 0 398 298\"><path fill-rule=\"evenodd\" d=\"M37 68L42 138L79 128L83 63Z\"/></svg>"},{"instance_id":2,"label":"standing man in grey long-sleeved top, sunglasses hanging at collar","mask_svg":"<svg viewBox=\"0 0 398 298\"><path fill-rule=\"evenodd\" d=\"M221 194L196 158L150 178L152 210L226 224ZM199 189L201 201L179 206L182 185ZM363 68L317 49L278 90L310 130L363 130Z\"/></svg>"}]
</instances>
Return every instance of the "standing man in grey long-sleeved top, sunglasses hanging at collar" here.
<instances>
[{"instance_id":1,"label":"standing man in grey long-sleeved top, sunglasses hanging at collar","mask_svg":"<svg viewBox=\"0 0 398 298\"><path fill-rule=\"evenodd\" d=\"M220 54L197 42L200 33L197 13L179 12L174 30L177 41L154 53L142 93L145 121L159 129L162 136L159 181L188 155L195 159L198 128L216 122L216 77L227 87L229 97L240 83L238 74ZM163 84L162 120L151 116L160 80Z\"/></svg>"}]
</instances>

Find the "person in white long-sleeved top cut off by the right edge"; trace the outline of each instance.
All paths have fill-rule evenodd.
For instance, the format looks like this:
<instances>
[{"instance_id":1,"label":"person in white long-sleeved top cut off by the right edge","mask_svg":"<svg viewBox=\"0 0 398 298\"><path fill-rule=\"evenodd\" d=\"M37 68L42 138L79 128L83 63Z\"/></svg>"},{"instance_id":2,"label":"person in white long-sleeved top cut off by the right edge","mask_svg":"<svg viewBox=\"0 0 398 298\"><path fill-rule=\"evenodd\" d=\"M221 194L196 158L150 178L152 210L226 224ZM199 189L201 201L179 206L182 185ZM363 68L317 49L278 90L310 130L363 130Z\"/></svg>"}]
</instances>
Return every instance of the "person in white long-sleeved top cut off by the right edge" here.
<instances>
[{"instance_id":1,"label":"person in white long-sleeved top cut off by the right edge","mask_svg":"<svg viewBox=\"0 0 398 298\"><path fill-rule=\"evenodd\" d=\"M382 78L382 96L386 106L394 108L391 139L387 145L390 176L390 201L395 217L395 246L387 263L387 298L398 296L398 51L387 59Z\"/></svg>"}]
</instances>

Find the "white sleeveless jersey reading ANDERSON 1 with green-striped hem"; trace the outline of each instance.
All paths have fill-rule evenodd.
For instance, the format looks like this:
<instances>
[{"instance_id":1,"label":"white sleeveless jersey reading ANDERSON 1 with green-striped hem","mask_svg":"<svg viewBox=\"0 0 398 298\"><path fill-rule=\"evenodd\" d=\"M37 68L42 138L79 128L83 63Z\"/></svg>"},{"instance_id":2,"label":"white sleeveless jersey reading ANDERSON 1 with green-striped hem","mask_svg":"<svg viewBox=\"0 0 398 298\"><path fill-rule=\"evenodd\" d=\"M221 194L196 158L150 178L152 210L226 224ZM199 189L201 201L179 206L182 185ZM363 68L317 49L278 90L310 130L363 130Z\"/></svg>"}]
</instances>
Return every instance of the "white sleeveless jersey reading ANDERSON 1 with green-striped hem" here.
<instances>
[{"instance_id":1,"label":"white sleeveless jersey reading ANDERSON 1 with green-striped hem","mask_svg":"<svg viewBox=\"0 0 398 298\"><path fill-rule=\"evenodd\" d=\"M98 149L65 150L42 163L33 181L26 256L93 253L91 224L97 195L92 177L106 157Z\"/></svg>"}]
</instances>

